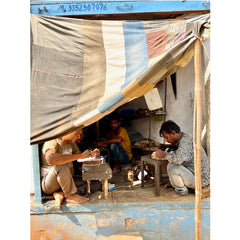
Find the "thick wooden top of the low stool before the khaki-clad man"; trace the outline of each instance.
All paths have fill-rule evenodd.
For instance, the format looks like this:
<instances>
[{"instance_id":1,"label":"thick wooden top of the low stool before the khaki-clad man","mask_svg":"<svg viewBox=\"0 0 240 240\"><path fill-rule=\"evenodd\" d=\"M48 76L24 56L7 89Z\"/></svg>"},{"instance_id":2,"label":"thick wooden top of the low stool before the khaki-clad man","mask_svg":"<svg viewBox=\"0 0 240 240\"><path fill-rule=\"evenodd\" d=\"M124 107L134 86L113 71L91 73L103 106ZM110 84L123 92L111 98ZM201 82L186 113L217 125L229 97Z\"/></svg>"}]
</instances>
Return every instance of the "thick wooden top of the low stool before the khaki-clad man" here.
<instances>
[{"instance_id":1,"label":"thick wooden top of the low stool before the khaki-clad man","mask_svg":"<svg viewBox=\"0 0 240 240\"><path fill-rule=\"evenodd\" d=\"M112 178L112 169L108 163L103 164L83 164L83 180L102 180Z\"/></svg>"}]
</instances>

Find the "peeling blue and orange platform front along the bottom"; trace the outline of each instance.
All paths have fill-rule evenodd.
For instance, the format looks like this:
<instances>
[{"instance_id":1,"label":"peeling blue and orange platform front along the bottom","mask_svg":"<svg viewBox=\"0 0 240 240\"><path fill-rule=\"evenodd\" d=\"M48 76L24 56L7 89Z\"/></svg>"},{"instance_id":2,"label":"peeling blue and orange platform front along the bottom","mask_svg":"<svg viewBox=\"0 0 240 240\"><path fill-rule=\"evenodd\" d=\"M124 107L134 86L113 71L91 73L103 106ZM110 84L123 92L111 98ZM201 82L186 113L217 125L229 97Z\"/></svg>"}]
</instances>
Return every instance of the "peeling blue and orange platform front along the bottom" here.
<instances>
[{"instance_id":1,"label":"peeling blue and orange platform front along the bottom","mask_svg":"<svg viewBox=\"0 0 240 240\"><path fill-rule=\"evenodd\" d=\"M32 210L38 209L31 214L36 239L100 240L124 232L140 232L144 240L190 240L195 236L194 202L67 204L62 210L50 205L41 205L41 213L40 205L32 206ZM209 205L209 201L202 202L202 240L210 239Z\"/></svg>"}]
</instances>

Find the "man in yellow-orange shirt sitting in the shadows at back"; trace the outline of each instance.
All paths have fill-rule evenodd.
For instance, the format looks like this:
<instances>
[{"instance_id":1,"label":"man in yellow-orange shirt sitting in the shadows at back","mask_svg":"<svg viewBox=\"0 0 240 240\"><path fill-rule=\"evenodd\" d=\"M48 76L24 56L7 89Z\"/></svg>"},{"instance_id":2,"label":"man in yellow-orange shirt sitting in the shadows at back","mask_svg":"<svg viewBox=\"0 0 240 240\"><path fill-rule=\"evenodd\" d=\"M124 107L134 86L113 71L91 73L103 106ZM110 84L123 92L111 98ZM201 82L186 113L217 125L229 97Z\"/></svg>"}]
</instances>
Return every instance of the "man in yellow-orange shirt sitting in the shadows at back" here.
<instances>
[{"instance_id":1,"label":"man in yellow-orange shirt sitting in the shadows at back","mask_svg":"<svg viewBox=\"0 0 240 240\"><path fill-rule=\"evenodd\" d=\"M119 163L127 164L132 158L131 142L127 130L123 127L120 127L121 122L118 115L115 114L111 116L110 125L112 129L106 135L108 140L98 142L97 146L111 144L114 160L112 173L117 174L120 172Z\"/></svg>"}]
</instances>

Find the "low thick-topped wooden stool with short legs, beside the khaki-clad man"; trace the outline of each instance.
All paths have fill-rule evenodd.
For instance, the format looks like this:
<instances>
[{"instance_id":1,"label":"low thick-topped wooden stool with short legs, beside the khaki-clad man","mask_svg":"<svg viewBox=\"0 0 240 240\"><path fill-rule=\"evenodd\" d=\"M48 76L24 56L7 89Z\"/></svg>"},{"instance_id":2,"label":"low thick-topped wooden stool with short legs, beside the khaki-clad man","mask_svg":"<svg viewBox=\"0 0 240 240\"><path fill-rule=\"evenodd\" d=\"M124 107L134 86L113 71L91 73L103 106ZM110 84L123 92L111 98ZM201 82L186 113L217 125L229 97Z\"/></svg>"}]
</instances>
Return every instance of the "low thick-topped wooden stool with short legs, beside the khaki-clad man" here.
<instances>
[{"instance_id":1,"label":"low thick-topped wooden stool with short legs, beside the khaki-clad man","mask_svg":"<svg viewBox=\"0 0 240 240\"><path fill-rule=\"evenodd\" d=\"M104 199L108 199L108 179L112 178L112 169L108 163L83 164L82 179L87 181L87 192L91 194L91 180L102 180Z\"/></svg>"}]
</instances>

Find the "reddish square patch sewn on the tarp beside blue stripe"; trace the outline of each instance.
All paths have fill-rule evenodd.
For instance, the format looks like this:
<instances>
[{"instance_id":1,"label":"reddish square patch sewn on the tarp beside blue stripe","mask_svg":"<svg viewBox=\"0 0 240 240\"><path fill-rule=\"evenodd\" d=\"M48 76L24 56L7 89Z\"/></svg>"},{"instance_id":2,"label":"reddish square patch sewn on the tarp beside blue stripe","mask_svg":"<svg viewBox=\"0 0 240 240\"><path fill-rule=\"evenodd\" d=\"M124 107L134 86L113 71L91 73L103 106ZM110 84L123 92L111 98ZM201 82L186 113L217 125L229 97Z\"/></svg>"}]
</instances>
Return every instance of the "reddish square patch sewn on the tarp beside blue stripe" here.
<instances>
[{"instance_id":1,"label":"reddish square patch sewn on the tarp beside blue stripe","mask_svg":"<svg viewBox=\"0 0 240 240\"><path fill-rule=\"evenodd\" d=\"M147 34L148 57L149 59L161 55L166 47L167 31L158 31Z\"/></svg>"}]
</instances>

